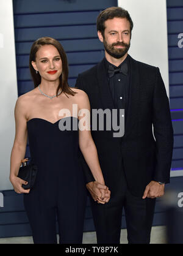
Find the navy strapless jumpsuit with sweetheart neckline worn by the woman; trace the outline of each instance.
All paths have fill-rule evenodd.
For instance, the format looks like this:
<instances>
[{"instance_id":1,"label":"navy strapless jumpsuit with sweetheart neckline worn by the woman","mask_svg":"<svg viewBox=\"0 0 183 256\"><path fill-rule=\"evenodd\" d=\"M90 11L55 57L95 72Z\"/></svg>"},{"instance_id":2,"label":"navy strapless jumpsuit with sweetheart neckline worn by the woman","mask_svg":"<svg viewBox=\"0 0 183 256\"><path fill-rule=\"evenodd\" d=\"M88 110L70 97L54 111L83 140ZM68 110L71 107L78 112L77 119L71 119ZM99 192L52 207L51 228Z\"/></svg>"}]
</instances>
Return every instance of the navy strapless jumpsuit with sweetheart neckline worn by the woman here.
<instances>
[{"instance_id":1,"label":"navy strapless jumpsuit with sweetheart neckline worn by the woman","mask_svg":"<svg viewBox=\"0 0 183 256\"><path fill-rule=\"evenodd\" d=\"M65 121L72 128L78 119L70 116ZM78 159L79 131L60 130L59 121L33 118L27 132L30 155L38 167L34 187L24 194L34 243L57 243L56 222L59 243L82 243L87 192Z\"/></svg>"}]
</instances>

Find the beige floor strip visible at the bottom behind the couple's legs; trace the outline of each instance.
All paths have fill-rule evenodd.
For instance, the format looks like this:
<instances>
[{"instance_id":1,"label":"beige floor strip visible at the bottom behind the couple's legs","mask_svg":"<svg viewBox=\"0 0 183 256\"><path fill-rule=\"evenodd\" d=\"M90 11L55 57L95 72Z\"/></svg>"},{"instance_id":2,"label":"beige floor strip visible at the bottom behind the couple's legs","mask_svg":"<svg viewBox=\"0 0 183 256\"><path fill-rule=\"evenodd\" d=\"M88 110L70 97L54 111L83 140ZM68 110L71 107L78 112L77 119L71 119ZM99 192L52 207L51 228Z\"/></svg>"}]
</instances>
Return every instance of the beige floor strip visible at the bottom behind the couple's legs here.
<instances>
[{"instance_id":1,"label":"beige floor strip visible at the bottom behind the couple's legs","mask_svg":"<svg viewBox=\"0 0 183 256\"><path fill-rule=\"evenodd\" d=\"M121 244L127 244L126 229L121 230ZM0 238L0 244L32 244L32 236L18 237L18 238ZM95 232L85 232L83 238L84 244L96 244ZM157 226L152 227L151 244L165 244L166 243L166 227Z\"/></svg>"}]
</instances>

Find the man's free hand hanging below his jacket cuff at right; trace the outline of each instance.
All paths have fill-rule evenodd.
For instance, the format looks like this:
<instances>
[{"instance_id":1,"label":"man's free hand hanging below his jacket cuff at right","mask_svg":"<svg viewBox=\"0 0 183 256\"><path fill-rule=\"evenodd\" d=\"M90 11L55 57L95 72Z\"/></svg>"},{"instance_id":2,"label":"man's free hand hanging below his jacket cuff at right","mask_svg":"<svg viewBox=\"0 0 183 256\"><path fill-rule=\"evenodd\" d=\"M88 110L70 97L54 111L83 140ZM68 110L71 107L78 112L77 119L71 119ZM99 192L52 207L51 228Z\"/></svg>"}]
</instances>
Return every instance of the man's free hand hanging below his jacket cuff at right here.
<instances>
[{"instance_id":1,"label":"man's free hand hanging below his jacket cuff at right","mask_svg":"<svg viewBox=\"0 0 183 256\"><path fill-rule=\"evenodd\" d=\"M165 184L159 184L157 181L151 181L145 189L145 192L143 193L143 199L146 197L148 198L156 198L156 197L162 197L164 195L165 190Z\"/></svg>"}]
</instances>

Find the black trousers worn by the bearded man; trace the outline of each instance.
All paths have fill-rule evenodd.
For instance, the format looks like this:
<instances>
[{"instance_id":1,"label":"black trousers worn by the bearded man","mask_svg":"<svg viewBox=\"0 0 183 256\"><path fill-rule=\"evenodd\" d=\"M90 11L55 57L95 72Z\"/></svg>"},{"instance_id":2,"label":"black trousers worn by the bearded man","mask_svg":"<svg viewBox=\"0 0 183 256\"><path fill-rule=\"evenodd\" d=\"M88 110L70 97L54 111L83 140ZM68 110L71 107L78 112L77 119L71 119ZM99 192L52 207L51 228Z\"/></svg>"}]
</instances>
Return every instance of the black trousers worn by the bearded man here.
<instances>
[{"instance_id":1,"label":"black trousers worn by the bearded man","mask_svg":"<svg viewBox=\"0 0 183 256\"><path fill-rule=\"evenodd\" d=\"M96 228L97 243L120 243L121 217L124 208L128 243L150 243L156 198L136 197L127 188L124 171L106 183L111 191L108 203L101 205L90 197L91 211Z\"/></svg>"}]
</instances>

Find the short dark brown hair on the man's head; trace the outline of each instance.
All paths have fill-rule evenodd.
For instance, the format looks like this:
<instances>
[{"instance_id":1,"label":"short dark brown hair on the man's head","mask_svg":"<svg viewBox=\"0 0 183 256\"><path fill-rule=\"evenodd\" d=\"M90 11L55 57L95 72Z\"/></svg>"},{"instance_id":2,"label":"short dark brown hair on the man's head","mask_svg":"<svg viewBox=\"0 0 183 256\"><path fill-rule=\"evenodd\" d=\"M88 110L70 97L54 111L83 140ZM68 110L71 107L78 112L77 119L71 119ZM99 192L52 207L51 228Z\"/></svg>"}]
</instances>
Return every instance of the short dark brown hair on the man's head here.
<instances>
[{"instance_id":1,"label":"short dark brown hair on the man's head","mask_svg":"<svg viewBox=\"0 0 183 256\"><path fill-rule=\"evenodd\" d=\"M97 31L100 31L103 37L104 37L104 30L105 30L105 25L104 25L105 21L112 20L115 17L126 18L130 23L131 32L132 32L134 24L127 10L124 10L121 7L109 7L106 10L103 10L98 15L98 18L96 21Z\"/></svg>"}]
</instances>

